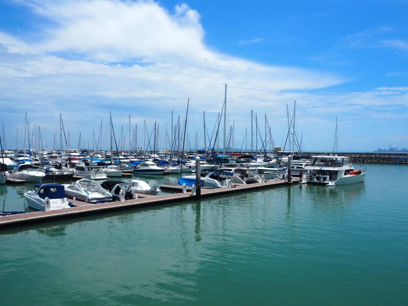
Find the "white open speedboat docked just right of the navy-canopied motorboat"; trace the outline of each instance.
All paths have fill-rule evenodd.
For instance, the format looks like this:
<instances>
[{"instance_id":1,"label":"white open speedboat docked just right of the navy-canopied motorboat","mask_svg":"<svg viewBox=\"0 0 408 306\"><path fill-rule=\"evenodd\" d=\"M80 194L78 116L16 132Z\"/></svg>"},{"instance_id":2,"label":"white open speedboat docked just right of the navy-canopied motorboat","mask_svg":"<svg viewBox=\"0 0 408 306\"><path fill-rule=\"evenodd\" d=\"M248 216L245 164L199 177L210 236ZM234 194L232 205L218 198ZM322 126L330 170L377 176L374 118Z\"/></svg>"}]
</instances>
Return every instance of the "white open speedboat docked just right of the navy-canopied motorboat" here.
<instances>
[{"instance_id":1,"label":"white open speedboat docked just right of the navy-canopied motorboat","mask_svg":"<svg viewBox=\"0 0 408 306\"><path fill-rule=\"evenodd\" d=\"M81 179L75 183L63 184L68 197L92 204L111 202L112 195L105 191L98 182Z\"/></svg>"}]
</instances>

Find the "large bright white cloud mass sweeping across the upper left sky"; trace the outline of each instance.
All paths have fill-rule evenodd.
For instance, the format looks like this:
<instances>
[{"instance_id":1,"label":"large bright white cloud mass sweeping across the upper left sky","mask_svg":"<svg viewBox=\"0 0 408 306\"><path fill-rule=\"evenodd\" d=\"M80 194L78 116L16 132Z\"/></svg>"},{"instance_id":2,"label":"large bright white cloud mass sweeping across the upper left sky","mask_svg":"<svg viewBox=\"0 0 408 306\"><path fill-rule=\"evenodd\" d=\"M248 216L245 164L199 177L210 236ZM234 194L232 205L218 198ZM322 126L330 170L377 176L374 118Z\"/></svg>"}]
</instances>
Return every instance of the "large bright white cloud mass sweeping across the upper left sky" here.
<instances>
[{"instance_id":1,"label":"large bright white cloud mass sweeping across the upper left sky","mask_svg":"<svg viewBox=\"0 0 408 306\"><path fill-rule=\"evenodd\" d=\"M47 132L52 139L58 119L54 130L50 120L62 113L72 133L82 131L82 137L92 139L86 133L97 129L109 110L118 123L126 124L133 113L133 120L163 124L169 122L171 110L184 112L188 97L195 116L190 118L201 118L204 110L214 112L214 118L208 116L210 125L222 106L224 82L229 90L228 121L235 120L242 129L251 109L281 124L285 105L293 99L305 116L323 125L341 111L358 114L373 106L407 104L401 90L395 97L384 91L396 89L327 92L345 79L215 52L203 42L200 14L186 4L169 12L153 1L24 3L53 26L40 31L35 42L0 32L0 101L11 130L29 111L31 122L51 126ZM259 41L262 38L247 43ZM199 125L199 120L192 121Z\"/></svg>"}]
</instances>

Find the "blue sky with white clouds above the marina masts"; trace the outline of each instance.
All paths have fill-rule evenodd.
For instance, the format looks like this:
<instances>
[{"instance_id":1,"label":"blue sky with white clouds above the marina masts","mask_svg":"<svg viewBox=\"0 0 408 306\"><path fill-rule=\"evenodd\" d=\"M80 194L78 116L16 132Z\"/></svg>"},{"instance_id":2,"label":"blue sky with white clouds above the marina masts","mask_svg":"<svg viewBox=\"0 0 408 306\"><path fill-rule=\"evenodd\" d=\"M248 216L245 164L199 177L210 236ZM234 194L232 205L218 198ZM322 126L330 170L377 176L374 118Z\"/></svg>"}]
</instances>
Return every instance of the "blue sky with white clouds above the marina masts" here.
<instances>
[{"instance_id":1,"label":"blue sky with white clouds above the marina masts","mask_svg":"<svg viewBox=\"0 0 408 306\"><path fill-rule=\"evenodd\" d=\"M202 148L203 112L208 144L227 83L235 148L251 148L251 110L254 150L265 115L268 147L272 135L287 148L295 100L304 151L333 151L336 117L340 152L407 147L407 11L402 0L0 0L1 135L22 149L27 112L31 144L40 126L42 146L59 146L61 114L70 148L80 133L80 147L95 134L108 148L111 112L119 149L129 115L137 147L156 122L164 148L189 99L186 147Z\"/></svg>"}]
</instances>

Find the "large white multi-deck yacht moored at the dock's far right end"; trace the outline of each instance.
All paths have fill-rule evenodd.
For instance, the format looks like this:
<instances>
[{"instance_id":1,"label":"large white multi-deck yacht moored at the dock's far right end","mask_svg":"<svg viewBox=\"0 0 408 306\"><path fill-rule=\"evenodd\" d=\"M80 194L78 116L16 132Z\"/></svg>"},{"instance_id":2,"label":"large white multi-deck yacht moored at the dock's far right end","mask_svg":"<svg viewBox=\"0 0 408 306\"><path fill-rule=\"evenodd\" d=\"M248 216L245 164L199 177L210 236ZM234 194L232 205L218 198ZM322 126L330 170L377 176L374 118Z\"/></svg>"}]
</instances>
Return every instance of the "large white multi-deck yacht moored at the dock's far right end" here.
<instances>
[{"instance_id":1,"label":"large white multi-deck yacht moored at the dock's far right end","mask_svg":"<svg viewBox=\"0 0 408 306\"><path fill-rule=\"evenodd\" d=\"M318 185L349 185L364 182L366 171L354 170L346 156L319 155L312 156L312 164L307 166L311 171L306 176L306 183Z\"/></svg>"}]
</instances>

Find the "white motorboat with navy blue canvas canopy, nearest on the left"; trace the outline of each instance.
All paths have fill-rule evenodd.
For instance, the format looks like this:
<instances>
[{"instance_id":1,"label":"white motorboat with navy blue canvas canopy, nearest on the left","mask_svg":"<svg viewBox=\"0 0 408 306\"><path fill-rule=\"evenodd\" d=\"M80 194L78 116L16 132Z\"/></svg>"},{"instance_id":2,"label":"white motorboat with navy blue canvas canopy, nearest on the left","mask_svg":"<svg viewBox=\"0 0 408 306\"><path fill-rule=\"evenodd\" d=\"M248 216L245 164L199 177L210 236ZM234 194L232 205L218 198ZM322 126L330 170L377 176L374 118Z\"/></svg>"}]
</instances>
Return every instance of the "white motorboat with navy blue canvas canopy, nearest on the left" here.
<instances>
[{"instance_id":1,"label":"white motorboat with navy blue canvas canopy, nearest on the left","mask_svg":"<svg viewBox=\"0 0 408 306\"><path fill-rule=\"evenodd\" d=\"M24 193L29 207L38 211L69 208L64 186L60 184L35 184L32 191Z\"/></svg>"}]
</instances>

